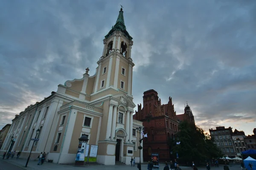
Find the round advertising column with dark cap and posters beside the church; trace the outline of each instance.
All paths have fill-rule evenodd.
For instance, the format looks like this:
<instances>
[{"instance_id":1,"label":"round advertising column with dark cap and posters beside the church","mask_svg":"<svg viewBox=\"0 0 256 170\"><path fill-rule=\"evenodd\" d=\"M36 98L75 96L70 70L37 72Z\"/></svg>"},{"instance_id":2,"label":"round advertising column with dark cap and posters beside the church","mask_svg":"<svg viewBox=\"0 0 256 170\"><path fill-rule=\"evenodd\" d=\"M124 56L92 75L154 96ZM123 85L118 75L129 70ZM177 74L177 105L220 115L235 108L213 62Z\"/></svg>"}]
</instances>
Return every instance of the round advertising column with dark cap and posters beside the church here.
<instances>
[{"instance_id":1,"label":"round advertising column with dark cap and posters beside the church","mask_svg":"<svg viewBox=\"0 0 256 170\"><path fill-rule=\"evenodd\" d=\"M78 150L77 150L77 155L76 155L76 162L75 165L84 165L84 151L86 150L86 145L88 142L88 137L86 135L82 135L79 139L79 145L78 145ZM84 144L83 144L84 143ZM82 150L84 146L84 150ZM80 160L80 156L83 154L83 160Z\"/></svg>"}]
</instances>

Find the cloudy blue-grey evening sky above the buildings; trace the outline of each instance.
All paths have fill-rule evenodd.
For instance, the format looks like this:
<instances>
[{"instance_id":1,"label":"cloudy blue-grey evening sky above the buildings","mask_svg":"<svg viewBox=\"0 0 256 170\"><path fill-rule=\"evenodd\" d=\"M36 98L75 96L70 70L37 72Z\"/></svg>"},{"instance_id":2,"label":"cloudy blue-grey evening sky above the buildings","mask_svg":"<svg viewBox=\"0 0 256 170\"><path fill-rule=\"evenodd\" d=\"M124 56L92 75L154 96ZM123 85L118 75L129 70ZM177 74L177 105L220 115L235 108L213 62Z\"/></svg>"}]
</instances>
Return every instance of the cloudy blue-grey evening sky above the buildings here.
<instances>
[{"instance_id":1,"label":"cloudy blue-grey evening sky above the buildings","mask_svg":"<svg viewBox=\"0 0 256 170\"><path fill-rule=\"evenodd\" d=\"M154 89L205 130L256 127L255 0L2 0L0 128L66 80L95 74L124 6L134 38L134 103ZM136 108L137 109L137 108Z\"/></svg>"}]
</instances>

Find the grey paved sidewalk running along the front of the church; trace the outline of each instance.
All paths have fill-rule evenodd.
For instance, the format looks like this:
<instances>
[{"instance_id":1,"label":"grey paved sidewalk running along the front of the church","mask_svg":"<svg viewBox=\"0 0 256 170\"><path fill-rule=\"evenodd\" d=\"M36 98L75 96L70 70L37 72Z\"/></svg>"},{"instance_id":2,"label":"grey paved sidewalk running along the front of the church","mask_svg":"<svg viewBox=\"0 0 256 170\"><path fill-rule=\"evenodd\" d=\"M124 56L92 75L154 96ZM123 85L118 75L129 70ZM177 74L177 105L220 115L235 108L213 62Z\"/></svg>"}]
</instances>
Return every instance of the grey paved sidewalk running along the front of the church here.
<instances>
[{"instance_id":1,"label":"grey paved sidewalk running along the front of the church","mask_svg":"<svg viewBox=\"0 0 256 170\"><path fill-rule=\"evenodd\" d=\"M25 167L26 159L16 159L16 158L9 158L9 159L0 159L0 161L6 161L10 164L14 164L18 167L23 168L24 170L137 170L137 164L135 167L131 167L131 165L84 165L82 167L75 167L74 165L64 165L64 164L55 164L44 162L43 165L38 165L37 161L29 161L28 167ZM74 161L75 162L75 161ZM147 170L148 164L142 164L141 169ZM162 170L164 164L160 164L160 170ZM186 169L189 167L181 167L181 169Z\"/></svg>"}]
</instances>

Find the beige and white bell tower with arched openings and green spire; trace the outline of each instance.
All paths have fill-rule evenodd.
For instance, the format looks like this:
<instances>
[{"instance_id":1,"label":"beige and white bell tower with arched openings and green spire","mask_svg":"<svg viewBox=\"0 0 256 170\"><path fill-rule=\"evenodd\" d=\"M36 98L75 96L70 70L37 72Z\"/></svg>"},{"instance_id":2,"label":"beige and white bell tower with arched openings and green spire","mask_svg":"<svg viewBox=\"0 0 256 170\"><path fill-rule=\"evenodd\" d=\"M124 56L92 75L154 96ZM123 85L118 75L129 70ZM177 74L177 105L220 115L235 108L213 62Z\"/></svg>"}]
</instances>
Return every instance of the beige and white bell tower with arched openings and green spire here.
<instances>
[{"instance_id":1,"label":"beige and white bell tower with arched openings and green spire","mask_svg":"<svg viewBox=\"0 0 256 170\"><path fill-rule=\"evenodd\" d=\"M123 13L121 8L116 24L103 40L104 47L102 57L97 62L99 66L96 69L93 94L112 88L132 97L134 63L131 59L131 46L133 41L126 31Z\"/></svg>"}]
</instances>

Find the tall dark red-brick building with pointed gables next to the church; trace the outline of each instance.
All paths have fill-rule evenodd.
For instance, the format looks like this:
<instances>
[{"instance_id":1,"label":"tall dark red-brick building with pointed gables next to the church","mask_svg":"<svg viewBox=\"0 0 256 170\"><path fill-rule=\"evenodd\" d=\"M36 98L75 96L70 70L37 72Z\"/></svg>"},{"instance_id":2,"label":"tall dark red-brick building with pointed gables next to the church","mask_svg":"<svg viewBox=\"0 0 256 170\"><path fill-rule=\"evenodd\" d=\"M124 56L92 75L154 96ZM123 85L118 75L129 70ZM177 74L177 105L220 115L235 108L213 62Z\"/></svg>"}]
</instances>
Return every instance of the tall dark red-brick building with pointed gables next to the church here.
<instances>
[{"instance_id":1,"label":"tall dark red-brick building with pointed gables next to the church","mask_svg":"<svg viewBox=\"0 0 256 170\"><path fill-rule=\"evenodd\" d=\"M154 90L144 92L143 108L138 105L138 111L135 111L134 119L143 122L145 127L143 157L144 161L150 160L151 153L159 153L161 161L170 160L170 150L168 139L174 138L178 131L178 122L172 98L169 97L168 104L162 105L161 99Z\"/></svg>"}]
</instances>

